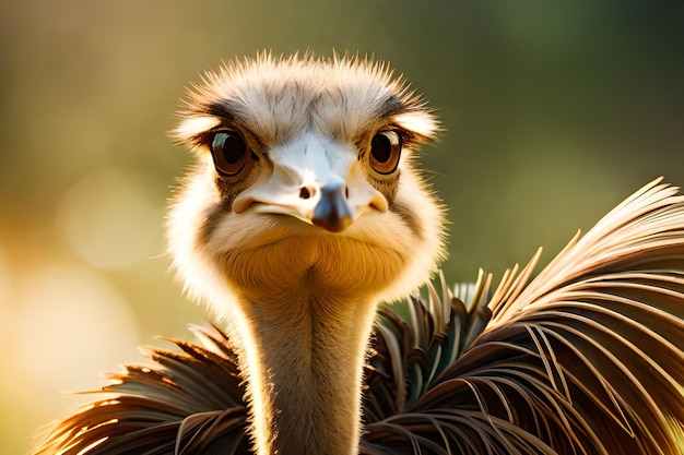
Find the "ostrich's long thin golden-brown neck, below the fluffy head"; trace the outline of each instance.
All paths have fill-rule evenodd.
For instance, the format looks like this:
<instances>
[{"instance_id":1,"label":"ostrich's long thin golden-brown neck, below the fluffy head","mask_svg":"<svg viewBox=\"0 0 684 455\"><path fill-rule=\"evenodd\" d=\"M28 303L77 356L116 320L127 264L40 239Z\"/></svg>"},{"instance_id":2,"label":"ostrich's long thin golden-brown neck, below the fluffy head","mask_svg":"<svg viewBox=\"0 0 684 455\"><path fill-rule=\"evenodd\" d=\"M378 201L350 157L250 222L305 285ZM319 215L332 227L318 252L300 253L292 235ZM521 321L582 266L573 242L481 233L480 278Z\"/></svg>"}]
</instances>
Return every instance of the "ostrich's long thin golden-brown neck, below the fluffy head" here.
<instances>
[{"instance_id":1,"label":"ostrich's long thin golden-brown neck, below the fluffy head","mask_svg":"<svg viewBox=\"0 0 684 455\"><path fill-rule=\"evenodd\" d=\"M306 295L249 301L243 369L259 455L358 451L361 383L376 304Z\"/></svg>"}]
</instances>

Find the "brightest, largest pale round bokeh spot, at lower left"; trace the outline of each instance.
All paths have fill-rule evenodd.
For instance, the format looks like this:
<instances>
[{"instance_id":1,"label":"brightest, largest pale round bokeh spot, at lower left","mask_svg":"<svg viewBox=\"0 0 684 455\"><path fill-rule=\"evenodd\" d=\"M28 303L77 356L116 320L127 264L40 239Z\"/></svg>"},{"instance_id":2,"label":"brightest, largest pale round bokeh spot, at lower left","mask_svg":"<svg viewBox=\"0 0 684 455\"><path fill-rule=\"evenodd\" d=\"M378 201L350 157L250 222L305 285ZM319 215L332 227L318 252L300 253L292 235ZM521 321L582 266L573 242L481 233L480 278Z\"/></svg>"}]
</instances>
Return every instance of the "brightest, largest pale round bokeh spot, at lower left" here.
<instances>
[{"instance_id":1,"label":"brightest, largest pale round bokeh spot, at lower left","mask_svg":"<svg viewBox=\"0 0 684 455\"><path fill-rule=\"evenodd\" d=\"M92 390L105 371L137 359L137 323L127 301L96 273L78 265L46 266L17 286L13 364L40 391Z\"/></svg>"}]
</instances>

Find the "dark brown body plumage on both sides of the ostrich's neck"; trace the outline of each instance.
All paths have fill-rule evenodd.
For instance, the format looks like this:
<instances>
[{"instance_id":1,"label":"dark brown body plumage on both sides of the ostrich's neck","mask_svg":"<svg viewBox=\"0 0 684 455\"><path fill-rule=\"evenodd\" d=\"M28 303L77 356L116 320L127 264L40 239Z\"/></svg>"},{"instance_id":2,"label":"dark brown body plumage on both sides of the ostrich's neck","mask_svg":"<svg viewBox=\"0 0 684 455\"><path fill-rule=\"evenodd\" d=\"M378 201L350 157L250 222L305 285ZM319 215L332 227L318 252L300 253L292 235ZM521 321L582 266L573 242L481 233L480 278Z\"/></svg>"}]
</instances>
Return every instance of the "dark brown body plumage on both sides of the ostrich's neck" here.
<instances>
[{"instance_id":1,"label":"dark brown body plumage on both sides of the ostrich's neck","mask_svg":"<svg viewBox=\"0 0 684 455\"><path fill-rule=\"evenodd\" d=\"M359 453L684 453L684 196L653 181L534 278L408 298L375 324ZM149 348L35 454L249 454L228 337Z\"/></svg>"}]
</instances>

